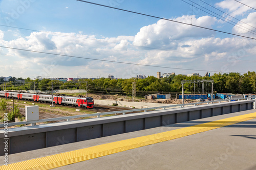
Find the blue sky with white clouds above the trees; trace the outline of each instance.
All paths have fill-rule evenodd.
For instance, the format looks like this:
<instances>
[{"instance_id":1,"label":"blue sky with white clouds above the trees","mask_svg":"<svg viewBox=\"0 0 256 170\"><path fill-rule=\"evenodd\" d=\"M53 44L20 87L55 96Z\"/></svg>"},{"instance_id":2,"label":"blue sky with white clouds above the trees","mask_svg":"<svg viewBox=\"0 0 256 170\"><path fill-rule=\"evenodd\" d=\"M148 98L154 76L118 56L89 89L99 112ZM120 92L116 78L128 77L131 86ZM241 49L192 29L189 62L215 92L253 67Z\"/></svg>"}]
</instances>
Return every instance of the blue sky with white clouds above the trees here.
<instances>
[{"instance_id":1,"label":"blue sky with white clouds above the trees","mask_svg":"<svg viewBox=\"0 0 256 170\"><path fill-rule=\"evenodd\" d=\"M0 0L0 77L256 71L256 1L239 1L254 9L234 0L90 1L150 17L76 0Z\"/></svg>"}]
</instances>

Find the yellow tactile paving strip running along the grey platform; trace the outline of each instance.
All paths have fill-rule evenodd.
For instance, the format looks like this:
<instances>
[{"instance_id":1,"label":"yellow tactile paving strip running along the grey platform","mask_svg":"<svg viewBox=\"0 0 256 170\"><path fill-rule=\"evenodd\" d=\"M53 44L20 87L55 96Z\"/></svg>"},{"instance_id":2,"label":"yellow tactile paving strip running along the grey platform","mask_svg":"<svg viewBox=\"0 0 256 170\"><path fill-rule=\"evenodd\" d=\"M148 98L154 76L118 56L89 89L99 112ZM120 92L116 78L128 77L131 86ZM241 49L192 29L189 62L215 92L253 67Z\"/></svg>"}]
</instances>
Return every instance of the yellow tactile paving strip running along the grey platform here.
<instances>
[{"instance_id":1,"label":"yellow tactile paving strip running along the grey platform","mask_svg":"<svg viewBox=\"0 0 256 170\"><path fill-rule=\"evenodd\" d=\"M228 125L237 124L246 120L256 118L256 112L225 118L214 122L200 124L196 126L181 128L177 130L161 132L153 135L136 137L106 144L97 145L95 147L79 149L71 152L36 158L23 162L0 166L0 169L52 169L60 166L69 165L89 159L94 159L146 145L159 143L167 140L177 139L180 137L205 132L212 129L221 128Z\"/></svg>"}]
</instances>

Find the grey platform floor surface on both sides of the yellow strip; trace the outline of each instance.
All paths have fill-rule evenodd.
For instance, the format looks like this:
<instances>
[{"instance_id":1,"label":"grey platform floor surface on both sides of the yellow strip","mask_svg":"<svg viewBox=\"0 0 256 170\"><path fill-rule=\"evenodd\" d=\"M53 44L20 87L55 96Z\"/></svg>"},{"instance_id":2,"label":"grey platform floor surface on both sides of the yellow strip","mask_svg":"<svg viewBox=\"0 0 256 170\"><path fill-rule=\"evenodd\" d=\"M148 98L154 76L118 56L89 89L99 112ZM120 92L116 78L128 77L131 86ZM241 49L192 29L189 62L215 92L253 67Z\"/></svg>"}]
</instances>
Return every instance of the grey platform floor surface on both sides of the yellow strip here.
<instances>
[{"instance_id":1,"label":"grey platform floor surface on both sides of the yellow strip","mask_svg":"<svg viewBox=\"0 0 256 170\"><path fill-rule=\"evenodd\" d=\"M92 147L199 125L215 120L256 112L248 110L185 123L102 137L76 143L60 139L56 147L9 155L9 164L53 154ZM256 119L164 141L55 169L256 169ZM3 165L3 161L1 161Z\"/></svg>"}]
</instances>

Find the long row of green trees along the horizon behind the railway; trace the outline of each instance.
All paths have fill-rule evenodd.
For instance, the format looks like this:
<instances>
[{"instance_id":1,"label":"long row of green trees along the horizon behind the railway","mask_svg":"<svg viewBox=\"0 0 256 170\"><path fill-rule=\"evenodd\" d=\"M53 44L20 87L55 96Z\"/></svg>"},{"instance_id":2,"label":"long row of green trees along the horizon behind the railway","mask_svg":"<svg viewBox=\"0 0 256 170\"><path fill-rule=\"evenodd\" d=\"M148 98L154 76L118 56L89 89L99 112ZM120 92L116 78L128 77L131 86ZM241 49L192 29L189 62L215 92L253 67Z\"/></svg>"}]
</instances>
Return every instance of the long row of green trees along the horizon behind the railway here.
<instances>
[{"instance_id":1,"label":"long row of green trees along the horizon behind the railway","mask_svg":"<svg viewBox=\"0 0 256 170\"><path fill-rule=\"evenodd\" d=\"M31 80L25 79L25 82L9 81L0 85L1 89L7 90L34 90L41 91L53 89L87 89L91 93L110 93L110 94L132 94L133 82L136 83L137 94L144 95L145 93L154 92L181 92L182 80L214 80L214 91L219 93L256 93L256 73L248 71L241 75L238 72L230 72L229 74L215 73L210 77L198 76L183 76L172 75L168 78L157 79L154 76L149 76L145 79L79 79L77 81L62 82L57 80ZM202 86L204 88L202 88ZM211 83L193 83L184 84L184 91L187 93L211 92Z\"/></svg>"}]
</instances>

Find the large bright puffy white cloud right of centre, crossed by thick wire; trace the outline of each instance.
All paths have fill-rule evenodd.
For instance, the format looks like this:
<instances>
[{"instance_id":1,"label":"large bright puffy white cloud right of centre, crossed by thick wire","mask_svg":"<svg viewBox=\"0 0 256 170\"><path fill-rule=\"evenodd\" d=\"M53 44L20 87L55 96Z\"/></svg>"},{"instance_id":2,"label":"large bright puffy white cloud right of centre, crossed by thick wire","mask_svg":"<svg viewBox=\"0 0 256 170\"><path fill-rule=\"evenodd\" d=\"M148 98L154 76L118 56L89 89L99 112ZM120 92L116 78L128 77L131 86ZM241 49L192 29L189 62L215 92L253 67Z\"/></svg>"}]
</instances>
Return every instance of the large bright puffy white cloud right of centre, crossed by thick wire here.
<instances>
[{"instance_id":1,"label":"large bright puffy white cloud right of centre, crossed by thick wire","mask_svg":"<svg viewBox=\"0 0 256 170\"><path fill-rule=\"evenodd\" d=\"M190 23L191 16L186 15L174 20ZM211 28L216 21L216 18L210 16L202 16L199 18L193 16L192 23L196 26ZM209 30L161 19L153 25L141 28L140 32L135 36L134 45L175 49L177 47L176 41L208 37L212 36L212 34L213 32Z\"/></svg>"}]
</instances>

